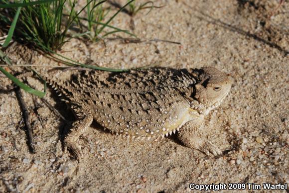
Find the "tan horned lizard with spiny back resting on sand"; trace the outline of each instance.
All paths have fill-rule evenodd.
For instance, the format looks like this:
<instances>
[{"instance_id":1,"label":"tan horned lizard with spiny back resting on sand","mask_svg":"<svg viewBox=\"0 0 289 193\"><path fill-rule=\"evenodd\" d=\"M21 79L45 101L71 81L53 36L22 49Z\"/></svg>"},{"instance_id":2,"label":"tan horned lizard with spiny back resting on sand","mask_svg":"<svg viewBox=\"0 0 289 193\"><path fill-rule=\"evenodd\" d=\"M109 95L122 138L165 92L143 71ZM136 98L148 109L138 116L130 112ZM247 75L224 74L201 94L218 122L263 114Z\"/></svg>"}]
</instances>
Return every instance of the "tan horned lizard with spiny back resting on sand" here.
<instances>
[{"instance_id":1,"label":"tan horned lizard with spiny back resting on sand","mask_svg":"<svg viewBox=\"0 0 289 193\"><path fill-rule=\"evenodd\" d=\"M231 89L228 76L213 67L92 71L83 72L72 82L45 79L78 119L64 139L78 161L82 153L77 141L93 120L129 138L156 140L178 131L177 137L185 146L206 154L221 154L196 134L204 116Z\"/></svg>"}]
</instances>

